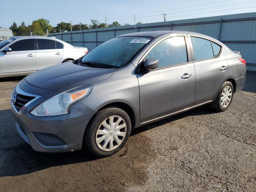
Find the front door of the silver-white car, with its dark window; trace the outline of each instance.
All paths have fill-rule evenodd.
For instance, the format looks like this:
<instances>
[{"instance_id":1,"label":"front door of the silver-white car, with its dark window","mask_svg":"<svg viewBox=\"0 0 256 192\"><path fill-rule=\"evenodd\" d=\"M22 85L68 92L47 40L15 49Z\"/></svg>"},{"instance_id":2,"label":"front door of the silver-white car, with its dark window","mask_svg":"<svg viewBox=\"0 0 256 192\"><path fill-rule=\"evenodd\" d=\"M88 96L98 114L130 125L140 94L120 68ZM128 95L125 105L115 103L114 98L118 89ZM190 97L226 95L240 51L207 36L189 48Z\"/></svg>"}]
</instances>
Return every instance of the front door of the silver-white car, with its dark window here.
<instances>
[{"instance_id":1,"label":"front door of the silver-white car, with its dark window","mask_svg":"<svg viewBox=\"0 0 256 192\"><path fill-rule=\"evenodd\" d=\"M22 39L12 43L12 52L0 53L0 75L36 71L35 39Z\"/></svg>"}]
</instances>

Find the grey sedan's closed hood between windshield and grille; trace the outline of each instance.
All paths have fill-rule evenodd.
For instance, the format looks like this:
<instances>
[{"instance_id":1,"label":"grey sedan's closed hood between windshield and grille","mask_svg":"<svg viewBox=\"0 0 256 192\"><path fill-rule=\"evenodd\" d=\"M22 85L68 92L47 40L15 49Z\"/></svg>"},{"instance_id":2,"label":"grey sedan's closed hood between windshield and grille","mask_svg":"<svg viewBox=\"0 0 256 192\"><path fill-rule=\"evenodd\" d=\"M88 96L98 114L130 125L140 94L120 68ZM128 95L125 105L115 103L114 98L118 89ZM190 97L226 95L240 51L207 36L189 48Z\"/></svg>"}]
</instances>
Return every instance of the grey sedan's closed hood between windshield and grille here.
<instances>
[{"instance_id":1,"label":"grey sedan's closed hood between windshield and grille","mask_svg":"<svg viewBox=\"0 0 256 192\"><path fill-rule=\"evenodd\" d=\"M64 91L109 78L115 69L90 68L66 62L48 67L26 77L36 87Z\"/></svg>"}]
</instances>

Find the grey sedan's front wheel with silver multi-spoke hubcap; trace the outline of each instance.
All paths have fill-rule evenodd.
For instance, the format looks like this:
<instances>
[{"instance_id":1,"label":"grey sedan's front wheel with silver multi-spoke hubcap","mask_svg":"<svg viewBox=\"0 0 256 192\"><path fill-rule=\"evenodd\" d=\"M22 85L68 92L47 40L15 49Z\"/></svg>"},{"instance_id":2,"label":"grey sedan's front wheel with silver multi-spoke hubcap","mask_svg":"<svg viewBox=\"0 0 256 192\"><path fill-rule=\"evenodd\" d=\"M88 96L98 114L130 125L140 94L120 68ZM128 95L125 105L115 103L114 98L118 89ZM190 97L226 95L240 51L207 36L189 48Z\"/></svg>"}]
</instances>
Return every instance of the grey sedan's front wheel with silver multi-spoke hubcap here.
<instances>
[{"instance_id":1,"label":"grey sedan's front wheel with silver multi-spoke hubcap","mask_svg":"<svg viewBox=\"0 0 256 192\"><path fill-rule=\"evenodd\" d=\"M115 124L111 124L111 122L116 123L118 127L115 129ZM111 127L111 125L113 126ZM118 128L120 129L118 130ZM126 132L125 135L124 132ZM84 145L94 156L110 156L118 152L125 145L130 132L131 121L128 114L120 108L106 108L98 111L86 127ZM120 141L122 142L120 143Z\"/></svg>"}]
</instances>

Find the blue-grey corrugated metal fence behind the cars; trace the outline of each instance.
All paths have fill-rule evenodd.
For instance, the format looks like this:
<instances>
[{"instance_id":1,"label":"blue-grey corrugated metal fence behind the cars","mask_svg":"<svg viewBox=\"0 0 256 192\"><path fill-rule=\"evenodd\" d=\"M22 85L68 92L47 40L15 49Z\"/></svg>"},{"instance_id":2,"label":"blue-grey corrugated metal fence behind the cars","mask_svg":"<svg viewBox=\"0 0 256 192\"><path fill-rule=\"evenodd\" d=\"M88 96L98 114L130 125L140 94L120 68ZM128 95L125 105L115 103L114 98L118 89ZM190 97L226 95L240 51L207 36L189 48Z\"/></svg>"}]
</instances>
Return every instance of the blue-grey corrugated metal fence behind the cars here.
<instances>
[{"instance_id":1,"label":"blue-grey corrugated metal fence behind the cars","mask_svg":"<svg viewBox=\"0 0 256 192\"><path fill-rule=\"evenodd\" d=\"M232 50L240 51L248 66L256 66L256 12L175 20L141 24L139 26L120 26L72 32L52 33L60 40L74 46L94 48L106 40L132 32L182 30L212 36L225 43Z\"/></svg>"}]
</instances>

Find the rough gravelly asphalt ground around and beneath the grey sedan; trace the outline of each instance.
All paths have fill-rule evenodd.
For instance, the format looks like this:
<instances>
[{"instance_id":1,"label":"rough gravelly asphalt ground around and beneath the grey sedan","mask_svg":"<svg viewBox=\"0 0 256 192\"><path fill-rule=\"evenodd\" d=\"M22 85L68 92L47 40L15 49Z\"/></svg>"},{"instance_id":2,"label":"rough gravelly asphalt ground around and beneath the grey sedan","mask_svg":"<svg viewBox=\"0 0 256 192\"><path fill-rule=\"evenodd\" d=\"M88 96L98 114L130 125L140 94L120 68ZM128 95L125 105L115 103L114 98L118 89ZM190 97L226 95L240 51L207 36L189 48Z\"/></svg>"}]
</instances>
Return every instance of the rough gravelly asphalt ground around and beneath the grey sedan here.
<instances>
[{"instance_id":1,"label":"rough gravelly asphalt ground around and beneath the grey sedan","mask_svg":"<svg viewBox=\"0 0 256 192\"><path fill-rule=\"evenodd\" d=\"M254 72L225 112L202 106L143 126L120 152L101 159L32 150L10 110L21 79L0 80L0 191L256 191Z\"/></svg>"}]
</instances>

